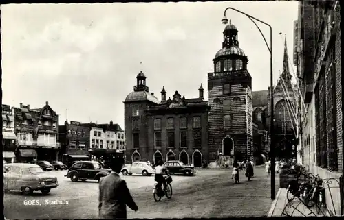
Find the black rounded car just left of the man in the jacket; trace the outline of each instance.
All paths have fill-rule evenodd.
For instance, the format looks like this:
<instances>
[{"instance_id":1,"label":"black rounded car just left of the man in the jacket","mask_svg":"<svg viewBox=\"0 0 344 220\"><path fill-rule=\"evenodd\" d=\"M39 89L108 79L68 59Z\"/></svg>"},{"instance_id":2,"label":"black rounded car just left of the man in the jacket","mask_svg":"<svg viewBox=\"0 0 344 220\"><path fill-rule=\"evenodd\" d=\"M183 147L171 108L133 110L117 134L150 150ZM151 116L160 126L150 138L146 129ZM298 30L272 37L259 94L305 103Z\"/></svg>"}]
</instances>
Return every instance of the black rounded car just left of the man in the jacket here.
<instances>
[{"instance_id":1,"label":"black rounded car just left of the man in the jacket","mask_svg":"<svg viewBox=\"0 0 344 220\"><path fill-rule=\"evenodd\" d=\"M96 161L79 161L75 162L72 167L68 169L65 177L70 178L73 182L79 179L85 182L86 180L100 180L111 173L111 169L104 169L99 162Z\"/></svg>"}]
</instances>

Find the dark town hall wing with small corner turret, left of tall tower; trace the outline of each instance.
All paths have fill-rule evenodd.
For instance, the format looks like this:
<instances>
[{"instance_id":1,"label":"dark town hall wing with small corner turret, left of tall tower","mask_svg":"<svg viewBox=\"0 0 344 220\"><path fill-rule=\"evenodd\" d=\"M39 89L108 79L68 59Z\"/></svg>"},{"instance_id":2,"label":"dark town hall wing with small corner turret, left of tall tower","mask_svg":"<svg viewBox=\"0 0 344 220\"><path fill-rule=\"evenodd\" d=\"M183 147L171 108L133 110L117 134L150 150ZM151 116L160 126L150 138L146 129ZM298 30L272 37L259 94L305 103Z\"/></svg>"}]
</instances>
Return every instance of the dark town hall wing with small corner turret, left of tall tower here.
<instances>
[{"instance_id":1,"label":"dark town hall wing with small corner turret, left of tall tower","mask_svg":"<svg viewBox=\"0 0 344 220\"><path fill-rule=\"evenodd\" d=\"M142 72L136 79L124 101L127 162L181 160L200 167L208 160L209 106L202 85L198 98L186 99L175 91L172 99L166 99L163 88L159 101L149 93Z\"/></svg>"}]
</instances>

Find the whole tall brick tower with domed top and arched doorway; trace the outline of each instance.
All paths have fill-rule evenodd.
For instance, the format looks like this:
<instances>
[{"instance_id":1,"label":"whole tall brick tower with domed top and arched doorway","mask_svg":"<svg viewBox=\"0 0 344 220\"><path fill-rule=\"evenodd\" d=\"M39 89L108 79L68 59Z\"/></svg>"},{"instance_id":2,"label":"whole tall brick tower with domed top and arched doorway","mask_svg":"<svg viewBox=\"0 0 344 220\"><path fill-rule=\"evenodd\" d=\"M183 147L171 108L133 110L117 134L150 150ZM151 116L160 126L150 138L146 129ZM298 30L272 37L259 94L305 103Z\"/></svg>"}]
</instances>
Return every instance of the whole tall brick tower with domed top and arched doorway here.
<instances>
[{"instance_id":1,"label":"whole tall brick tower with domed top and arched doorway","mask_svg":"<svg viewBox=\"0 0 344 220\"><path fill-rule=\"evenodd\" d=\"M252 156L252 77L237 33L231 22L225 27L222 49L213 59L214 73L208 73L210 161Z\"/></svg>"}]
</instances>

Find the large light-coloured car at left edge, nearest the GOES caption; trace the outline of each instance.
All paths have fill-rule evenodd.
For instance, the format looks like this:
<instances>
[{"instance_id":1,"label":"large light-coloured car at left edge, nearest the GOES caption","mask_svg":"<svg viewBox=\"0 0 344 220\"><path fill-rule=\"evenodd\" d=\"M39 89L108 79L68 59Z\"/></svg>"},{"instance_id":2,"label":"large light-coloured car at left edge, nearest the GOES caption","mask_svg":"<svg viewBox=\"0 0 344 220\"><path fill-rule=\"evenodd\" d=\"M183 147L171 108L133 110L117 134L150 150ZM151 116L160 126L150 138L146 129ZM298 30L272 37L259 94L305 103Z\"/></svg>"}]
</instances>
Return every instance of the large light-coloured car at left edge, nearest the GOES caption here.
<instances>
[{"instance_id":1,"label":"large light-coloured car at left edge, nearest the GOES caption","mask_svg":"<svg viewBox=\"0 0 344 220\"><path fill-rule=\"evenodd\" d=\"M4 192L20 190L24 195L30 195L33 191L41 191L46 195L57 186L57 178L46 174L36 164L12 163L6 164L3 169Z\"/></svg>"}]
</instances>

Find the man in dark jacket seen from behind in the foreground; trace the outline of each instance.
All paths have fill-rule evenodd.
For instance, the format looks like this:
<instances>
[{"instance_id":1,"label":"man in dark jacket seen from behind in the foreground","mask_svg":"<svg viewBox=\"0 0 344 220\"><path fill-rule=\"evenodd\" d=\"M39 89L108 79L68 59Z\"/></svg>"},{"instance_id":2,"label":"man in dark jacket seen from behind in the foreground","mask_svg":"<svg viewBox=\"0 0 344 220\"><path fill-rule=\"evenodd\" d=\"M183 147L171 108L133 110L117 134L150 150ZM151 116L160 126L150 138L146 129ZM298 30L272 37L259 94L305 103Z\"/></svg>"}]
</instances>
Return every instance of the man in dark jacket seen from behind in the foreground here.
<instances>
[{"instance_id":1,"label":"man in dark jacket seen from behind in the foreground","mask_svg":"<svg viewBox=\"0 0 344 220\"><path fill-rule=\"evenodd\" d=\"M138 206L130 195L127 183L120 178L124 161L120 158L110 160L111 173L100 178L98 210L100 219L127 219L127 206L134 211Z\"/></svg>"}]
</instances>

